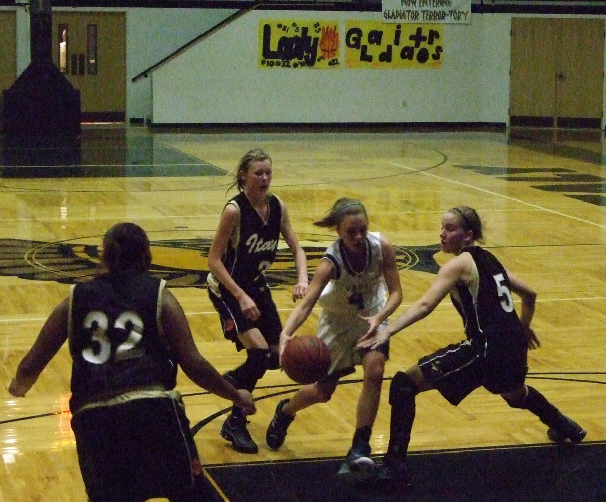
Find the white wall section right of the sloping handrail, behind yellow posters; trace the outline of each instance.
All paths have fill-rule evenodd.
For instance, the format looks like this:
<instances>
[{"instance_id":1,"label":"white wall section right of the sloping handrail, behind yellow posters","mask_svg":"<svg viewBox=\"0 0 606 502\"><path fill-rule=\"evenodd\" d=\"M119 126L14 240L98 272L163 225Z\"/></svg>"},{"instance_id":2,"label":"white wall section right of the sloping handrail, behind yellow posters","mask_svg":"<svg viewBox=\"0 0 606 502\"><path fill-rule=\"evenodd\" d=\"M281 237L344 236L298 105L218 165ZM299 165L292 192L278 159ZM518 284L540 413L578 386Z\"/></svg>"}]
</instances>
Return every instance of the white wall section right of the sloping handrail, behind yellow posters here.
<instances>
[{"instance_id":1,"label":"white wall section right of the sloping handrail, behind yellow posters","mask_svg":"<svg viewBox=\"0 0 606 502\"><path fill-rule=\"evenodd\" d=\"M153 123L507 122L510 15L444 25L441 69L258 68L261 18L336 19L343 33L378 15L247 13L153 72Z\"/></svg>"}]
</instances>

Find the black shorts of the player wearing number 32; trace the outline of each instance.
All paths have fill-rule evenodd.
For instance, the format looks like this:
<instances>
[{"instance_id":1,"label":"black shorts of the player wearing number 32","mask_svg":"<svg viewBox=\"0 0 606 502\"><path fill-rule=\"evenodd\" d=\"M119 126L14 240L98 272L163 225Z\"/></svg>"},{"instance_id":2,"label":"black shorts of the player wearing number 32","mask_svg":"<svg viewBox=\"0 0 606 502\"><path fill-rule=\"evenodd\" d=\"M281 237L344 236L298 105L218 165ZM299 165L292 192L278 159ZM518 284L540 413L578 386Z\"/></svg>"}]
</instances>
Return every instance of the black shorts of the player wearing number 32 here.
<instances>
[{"instance_id":1,"label":"black shorts of the player wearing number 32","mask_svg":"<svg viewBox=\"0 0 606 502\"><path fill-rule=\"evenodd\" d=\"M180 397L83 409L73 415L72 429L92 502L207 500L199 489L204 474Z\"/></svg>"}]
</instances>

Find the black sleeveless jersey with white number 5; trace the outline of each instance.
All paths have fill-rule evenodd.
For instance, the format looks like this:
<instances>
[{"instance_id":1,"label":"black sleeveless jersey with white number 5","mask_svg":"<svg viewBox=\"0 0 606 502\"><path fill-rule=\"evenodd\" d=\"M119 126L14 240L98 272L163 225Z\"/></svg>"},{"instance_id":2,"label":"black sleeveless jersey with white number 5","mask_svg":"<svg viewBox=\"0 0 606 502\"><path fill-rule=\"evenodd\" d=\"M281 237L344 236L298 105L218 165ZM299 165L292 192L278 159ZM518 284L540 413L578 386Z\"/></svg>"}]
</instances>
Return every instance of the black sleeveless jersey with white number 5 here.
<instances>
[{"instance_id":1,"label":"black sleeveless jersey with white number 5","mask_svg":"<svg viewBox=\"0 0 606 502\"><path fill-rule=\"evenodd\" d=\"M469 285L457 285L451 299L465 325L465 335L485 355L525 347L522 323L514 310L507 272L490 252L478 246L465 247L478 276Z\"/></svg>"}]
</instances>

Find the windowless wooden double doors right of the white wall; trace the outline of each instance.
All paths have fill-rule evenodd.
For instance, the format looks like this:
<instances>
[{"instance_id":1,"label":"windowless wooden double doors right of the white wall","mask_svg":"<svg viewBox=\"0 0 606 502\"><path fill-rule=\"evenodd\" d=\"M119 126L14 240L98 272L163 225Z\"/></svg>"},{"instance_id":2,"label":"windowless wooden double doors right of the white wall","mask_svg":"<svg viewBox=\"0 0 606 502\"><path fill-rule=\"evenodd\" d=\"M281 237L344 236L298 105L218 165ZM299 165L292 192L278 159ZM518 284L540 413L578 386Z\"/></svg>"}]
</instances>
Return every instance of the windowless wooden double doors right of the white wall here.
<instances>
[{"instance_id":1,"label":"windowless wooden double doors right of the white wall","mask_svg":"<svg viewBox=\"0 0 606 502\"><path fill-rule=\"evenodd\" d=\"M604 29L603 19L511 19L511 126L601 129Z\"/></svg>"}]
</instances>

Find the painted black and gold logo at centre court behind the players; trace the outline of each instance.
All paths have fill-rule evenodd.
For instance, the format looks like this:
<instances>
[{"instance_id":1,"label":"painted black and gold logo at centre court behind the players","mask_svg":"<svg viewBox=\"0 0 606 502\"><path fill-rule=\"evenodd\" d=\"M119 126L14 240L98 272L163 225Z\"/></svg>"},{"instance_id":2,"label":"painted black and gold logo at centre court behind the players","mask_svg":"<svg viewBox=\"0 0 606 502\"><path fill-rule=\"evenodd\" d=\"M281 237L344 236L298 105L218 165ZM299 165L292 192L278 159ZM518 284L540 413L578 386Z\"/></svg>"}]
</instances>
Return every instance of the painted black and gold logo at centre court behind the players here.
<instances>
[{"instance_id":1,"label":"painted black and gold logo at centre court behind the players","mask_svg":"<svg viewBox=\"0 0 606 502\"><path fill-rule=\"evenodd\" d=\"M315 270L333 238L307 236L301 239L308 260L308 270ZM169 287L207 286L207 256L211 239L169 239L152 241L152 275L165 279ZM438 264L433 255L439 246L394 246L398 268L436 273ZM78 239L58 243L0 239L0 275L32 281L55 281L75 284L99 275L100 249L79 244ZM288 247L279 247L276 259L265 272L272 289L292 286L297 282L295 261Z\"/></svg>"}]
</instances>

